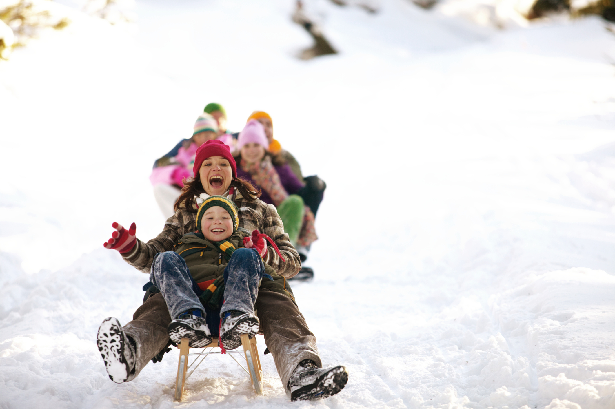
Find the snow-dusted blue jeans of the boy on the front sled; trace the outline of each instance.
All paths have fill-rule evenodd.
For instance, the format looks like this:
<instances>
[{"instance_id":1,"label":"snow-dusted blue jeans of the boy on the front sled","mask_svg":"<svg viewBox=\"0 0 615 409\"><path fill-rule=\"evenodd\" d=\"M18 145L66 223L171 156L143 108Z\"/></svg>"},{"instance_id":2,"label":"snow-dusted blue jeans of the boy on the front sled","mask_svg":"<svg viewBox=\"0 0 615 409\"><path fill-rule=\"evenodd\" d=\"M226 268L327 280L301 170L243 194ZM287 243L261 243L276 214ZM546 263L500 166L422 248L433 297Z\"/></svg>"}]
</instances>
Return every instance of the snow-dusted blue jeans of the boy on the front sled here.
<instances>
[{"instance_id":1,"label":"snow-dusted blue jeans of the boy on the front sled","mask_svg":"<svg viewBox=\"0 0 615 409\"><path fill-rule=\"evenodd\" d=\"M231 310L254 314L258 284L264 271L263 259L255 249L237 248L232 253L224 269L224 304L220 317ZM202 290L192 279L186 261L177 253L157 253L149 280L162 293L172 319L189 309L198 309L205 317L205 309L199 300Z\"/></svg>"}]
</instances>

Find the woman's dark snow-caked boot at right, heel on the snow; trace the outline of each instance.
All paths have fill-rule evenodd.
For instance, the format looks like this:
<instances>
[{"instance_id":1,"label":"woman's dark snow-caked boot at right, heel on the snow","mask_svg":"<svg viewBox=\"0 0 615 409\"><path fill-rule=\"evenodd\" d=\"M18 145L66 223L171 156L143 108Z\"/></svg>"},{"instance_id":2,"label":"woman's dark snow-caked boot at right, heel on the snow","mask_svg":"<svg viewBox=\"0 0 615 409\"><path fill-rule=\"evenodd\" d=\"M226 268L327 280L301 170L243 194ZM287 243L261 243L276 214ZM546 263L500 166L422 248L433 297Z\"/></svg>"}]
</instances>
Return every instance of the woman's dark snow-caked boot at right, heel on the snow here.
<instances>
[{"instance_id":1,"label":"woman's dark snow-caked boot at right, heel on the snow","mask_svg":"<svg viewBox=\"0 0 615 409\"><path fill-rule=\"evenodd\" d=\"M330 397L344 389L347 381L348 371L342 365L319 368L312 360L302 360L288 380L290 400Z\"/></svg>"}]
</instances>

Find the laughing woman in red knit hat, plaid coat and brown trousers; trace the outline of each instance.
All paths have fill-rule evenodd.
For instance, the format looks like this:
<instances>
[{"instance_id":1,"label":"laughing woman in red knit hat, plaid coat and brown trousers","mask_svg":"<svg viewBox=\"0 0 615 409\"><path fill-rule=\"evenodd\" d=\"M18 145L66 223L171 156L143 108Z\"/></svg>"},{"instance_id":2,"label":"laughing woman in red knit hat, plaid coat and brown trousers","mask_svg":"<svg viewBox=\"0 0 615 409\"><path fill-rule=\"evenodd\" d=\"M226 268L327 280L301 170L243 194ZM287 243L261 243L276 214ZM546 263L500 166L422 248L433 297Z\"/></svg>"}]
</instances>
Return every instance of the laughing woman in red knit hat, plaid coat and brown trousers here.
<instances>
[{"instance_id":1,"label":"laughing woman in red knit hat, plaid coat and brown trousers","mask_svg":"<svg viewBox=\"0 0 615 409\"><path fill-rule=\"evenodd\" d=\"M114 248L129 264L149 274L157 253L169 252L181 236L196 230L198 203L209 196L221 195L231 199L239 208L239 227L248 231L258 229L267 234L286 260L282 261L273 248L267 247L264 262L279 276L294 276L301 268L301 261L287 240L276 209L260 201L260 191L250 183L237 178L236 162L228 145L217 140L204 143L196 151L193 171L194 178L186 181L175 203L175 215L167 220L161 234L144 243L135 236L134 223L129 230L114 223L117 231L113 232L105 247ZM347 381L346 368L341 365L322 368L314 334L294 300L282 293L260 288L255 309L282 385L292 400L318 399L341 391ZM149 360L167 347L167 327L171 321L164 298L161 293L156 293L135 311L132 321L114 330L117 365L132 365L132 369L127 371L126 378L113 378L113 381L122 383L134 379ZM100 345L98 347L103 350ZM130 365L127 365L128 361ZM113 367L113 363L110 366Z\"/></svg>"}]
</instances>

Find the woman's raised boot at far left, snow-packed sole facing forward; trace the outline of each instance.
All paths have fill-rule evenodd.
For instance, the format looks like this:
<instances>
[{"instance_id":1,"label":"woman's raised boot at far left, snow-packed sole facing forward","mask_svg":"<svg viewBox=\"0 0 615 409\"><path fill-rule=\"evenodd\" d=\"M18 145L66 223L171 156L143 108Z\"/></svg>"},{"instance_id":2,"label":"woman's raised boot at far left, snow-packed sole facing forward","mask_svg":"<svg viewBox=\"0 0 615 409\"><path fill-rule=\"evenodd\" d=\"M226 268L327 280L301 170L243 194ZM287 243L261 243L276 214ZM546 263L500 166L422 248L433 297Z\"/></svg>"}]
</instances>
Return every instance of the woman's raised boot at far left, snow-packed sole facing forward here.
<instances>
[{"instance_id":1,"label":"woman's raised boot at far left, snow-packed sole facing forward","mask_svg":"<svg viewBox=\"0 0 615 409\"><path fill-rule=\"evenodd\" d=\"M130 375L135 374L137 344L124 333L116 318L103 320L98 328L96 344L105 361L109 379L115 383L129 381Z\"/></svg>"}]
</instances>

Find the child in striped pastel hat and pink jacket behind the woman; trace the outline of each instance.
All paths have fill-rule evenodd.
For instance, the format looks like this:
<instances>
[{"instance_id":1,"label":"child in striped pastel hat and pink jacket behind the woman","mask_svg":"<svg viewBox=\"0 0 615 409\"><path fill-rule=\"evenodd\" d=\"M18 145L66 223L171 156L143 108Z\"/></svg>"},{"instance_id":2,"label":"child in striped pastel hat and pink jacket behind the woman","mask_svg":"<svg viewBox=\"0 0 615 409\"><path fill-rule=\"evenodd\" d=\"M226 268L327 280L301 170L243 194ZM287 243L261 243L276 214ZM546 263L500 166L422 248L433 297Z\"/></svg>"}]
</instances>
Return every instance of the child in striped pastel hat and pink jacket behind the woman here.
<instances>
[{"instance_id":1,"label":"child in striped pastel hat and pink jacket behind the woman","mask_svg":"<svg viewBox=\"0 0 615 409\"><path fill-rule=\"evenodd\" d=\"M218 138L218 122L208 114L202 113L194 123L192 137L181 140L169 153L154 162L149 177L154 185L154 198L165 218L175 214L173 205L180 197L183 180L192 177L192 165L196 149L205 141Z\"/></svg>"}]
</instances>

